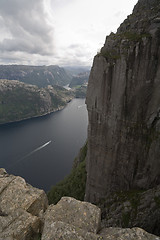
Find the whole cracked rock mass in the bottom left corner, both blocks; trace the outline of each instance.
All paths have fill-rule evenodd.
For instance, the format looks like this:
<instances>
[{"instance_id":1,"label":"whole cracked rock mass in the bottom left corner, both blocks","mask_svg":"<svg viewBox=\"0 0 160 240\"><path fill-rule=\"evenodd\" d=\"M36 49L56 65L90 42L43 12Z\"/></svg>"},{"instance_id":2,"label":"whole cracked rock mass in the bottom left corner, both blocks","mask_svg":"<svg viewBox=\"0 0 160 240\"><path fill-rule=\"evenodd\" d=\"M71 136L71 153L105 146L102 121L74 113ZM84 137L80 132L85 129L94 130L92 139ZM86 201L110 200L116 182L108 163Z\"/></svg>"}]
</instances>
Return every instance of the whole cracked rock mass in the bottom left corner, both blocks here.
<instances>
[{"instance_id":1,"label":"whole cracked rock mass in the bottom left corner, both blocks","mask_svg":"<svg viewBox=\"0 0 160 240\"><path fill-rule=\"evenodd\" d=\"M43 190L0 169L0 239L35 239L41 231L41 216L47 207Z\"/></svg>"}]
</instances>

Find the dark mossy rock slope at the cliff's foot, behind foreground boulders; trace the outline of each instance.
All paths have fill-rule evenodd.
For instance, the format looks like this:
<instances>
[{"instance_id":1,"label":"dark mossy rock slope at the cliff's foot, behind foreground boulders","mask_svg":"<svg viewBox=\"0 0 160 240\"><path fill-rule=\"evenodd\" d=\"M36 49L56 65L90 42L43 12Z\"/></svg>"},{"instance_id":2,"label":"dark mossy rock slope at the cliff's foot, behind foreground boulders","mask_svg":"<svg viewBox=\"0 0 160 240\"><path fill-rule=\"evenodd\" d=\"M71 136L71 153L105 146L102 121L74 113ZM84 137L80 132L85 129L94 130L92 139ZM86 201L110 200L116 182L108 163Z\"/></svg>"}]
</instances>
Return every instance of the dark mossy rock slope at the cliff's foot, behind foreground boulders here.
<instances>
[{"instance_id":1,"label":"dark mossy rock slope at the cliff's foot, behind foreground boulders","mask_svg":"<svg viewBox=\"0 0 160 240\"><path fill-rule=\"evenodd\" d=\"M117 192L101 204L103 227L141 227L160 235L160 185L147 190Z\"/></svg>"}]
</instances>

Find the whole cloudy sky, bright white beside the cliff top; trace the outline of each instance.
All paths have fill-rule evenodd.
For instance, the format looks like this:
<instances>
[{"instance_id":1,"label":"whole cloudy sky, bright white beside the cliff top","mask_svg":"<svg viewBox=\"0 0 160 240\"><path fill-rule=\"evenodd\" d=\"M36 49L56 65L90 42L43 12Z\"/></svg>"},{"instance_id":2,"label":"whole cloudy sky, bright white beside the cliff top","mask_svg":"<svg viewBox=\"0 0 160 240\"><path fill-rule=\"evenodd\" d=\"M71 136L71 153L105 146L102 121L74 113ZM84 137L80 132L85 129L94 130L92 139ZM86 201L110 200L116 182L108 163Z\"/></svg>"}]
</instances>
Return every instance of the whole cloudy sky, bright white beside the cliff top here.
<instances>
[{"instance_id":1,"label":"whole cloudy sky, bright white beside the cliff top","mask_svg":"<svg viewBox=\"0 0 160 240\"><path fill-rule=\"evenodd\" d=\"M0 64L91 66L137 0L0 0Z\"/></svg>"}]
</instances>

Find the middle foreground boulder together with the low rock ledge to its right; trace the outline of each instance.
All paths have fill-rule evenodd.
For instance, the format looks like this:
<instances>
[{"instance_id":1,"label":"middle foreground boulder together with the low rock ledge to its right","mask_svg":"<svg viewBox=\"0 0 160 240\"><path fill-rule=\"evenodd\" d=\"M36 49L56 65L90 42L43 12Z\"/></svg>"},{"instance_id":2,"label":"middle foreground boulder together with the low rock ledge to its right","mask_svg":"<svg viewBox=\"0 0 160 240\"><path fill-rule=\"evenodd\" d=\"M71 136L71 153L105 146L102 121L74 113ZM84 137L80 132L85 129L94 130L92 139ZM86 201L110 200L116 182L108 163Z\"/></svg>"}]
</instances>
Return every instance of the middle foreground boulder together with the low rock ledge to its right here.
<instances>
[{"instance_id":1,"label":"middle foreground boulder together with the low rock ledge to its right","mask_svg":"<svg viewBox=\"0 0 160 240\"><path fill-rule=\"evenodd\" d=\"M45 213L42 240L160 240L140 228L103 228L97 233L99 219L98 207L63 197Z\"/></svg>"}]
</instances>

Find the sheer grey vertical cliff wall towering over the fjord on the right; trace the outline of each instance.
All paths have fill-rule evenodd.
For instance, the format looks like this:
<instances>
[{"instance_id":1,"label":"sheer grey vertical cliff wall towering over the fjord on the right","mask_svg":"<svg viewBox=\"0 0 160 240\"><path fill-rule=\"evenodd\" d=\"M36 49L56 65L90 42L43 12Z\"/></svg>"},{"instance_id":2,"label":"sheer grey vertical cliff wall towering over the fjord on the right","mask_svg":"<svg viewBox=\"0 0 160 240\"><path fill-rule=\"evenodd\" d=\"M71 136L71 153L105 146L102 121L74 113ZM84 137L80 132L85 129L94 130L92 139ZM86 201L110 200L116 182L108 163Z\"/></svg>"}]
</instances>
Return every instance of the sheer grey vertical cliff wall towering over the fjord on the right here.
<instances>
[{"instance_id":1,"label":"sheer grey vertical cliff wall towering over the fjord on the right","mask_svg":"<svg viewBox=\"0 0 160 240\"><path fill-rule=\"evenodd\" d=\"M160 184L160 1L139 0L94 58L86 200Z\"/></svg>"}]
</instances>

